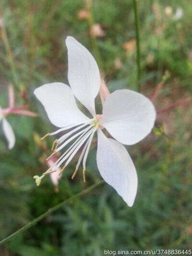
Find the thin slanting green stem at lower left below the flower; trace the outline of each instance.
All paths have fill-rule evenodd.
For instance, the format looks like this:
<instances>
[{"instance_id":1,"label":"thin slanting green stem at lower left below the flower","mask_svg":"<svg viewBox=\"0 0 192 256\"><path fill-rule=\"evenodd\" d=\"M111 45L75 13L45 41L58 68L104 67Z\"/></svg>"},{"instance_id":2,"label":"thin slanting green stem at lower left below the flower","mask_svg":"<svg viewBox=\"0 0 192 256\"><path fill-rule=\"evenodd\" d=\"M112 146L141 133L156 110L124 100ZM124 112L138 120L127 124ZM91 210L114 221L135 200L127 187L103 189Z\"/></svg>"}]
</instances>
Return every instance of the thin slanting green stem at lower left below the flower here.
<instances>
[{"instance_id":1,"label":"thin slanting green stem at lower left below the flower","mask_svg":"<svg viewBox=\"0 0 192 256\"><path fill-rule=\"evenodd\" d=\"M59 209L60 207L66 205L67 203L69 203L70 201L74 200L75 198L81 196L81 195L85 195L87 194L89 191L93 190L94 188L98 187L99 185L101 185L102 183L104 183L104 181L100 181L86 189L84 189L83 191L79 192L76 195L72 195L70 198L64 200L63 202L61 202L60 204L48 209L46 212L44 212L43 214L41 214L39 217L37 217L36 219L32 220L31 222L29 222L28 224L26 224L23 228L19 229L18 231L12 233L10 236L6 237L5 239L0 241L0 244L4 244L12 239L14 239L17 235L21 234L22 232L24 232L25 230L29 229L30 227L32 227L33 225L35 225L38 221L40 221L41 219L45 218L48 214L56 211L57 209Z\"/></svg>"}]
</instances>

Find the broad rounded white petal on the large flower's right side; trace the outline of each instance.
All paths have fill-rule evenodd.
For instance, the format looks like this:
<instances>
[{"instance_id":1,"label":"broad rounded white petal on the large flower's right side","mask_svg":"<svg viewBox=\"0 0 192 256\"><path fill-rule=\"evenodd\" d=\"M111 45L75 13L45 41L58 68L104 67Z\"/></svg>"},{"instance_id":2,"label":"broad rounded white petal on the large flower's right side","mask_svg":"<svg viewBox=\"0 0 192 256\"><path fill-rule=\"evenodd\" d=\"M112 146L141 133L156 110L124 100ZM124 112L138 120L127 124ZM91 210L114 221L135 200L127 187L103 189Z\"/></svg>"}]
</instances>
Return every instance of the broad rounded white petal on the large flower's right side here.
<instances>
[{"instance_id":1,"label":"broad rounded white petal on the large flower's right side","mask_svg":"<svg viewBox=\"0 0 192 256\"><path fill-rule=\"evenodd\" d=\"M120 143L133 145L149 134L156 120L153 103L131 90L117 90L106 98L100 124Z\"/></svg>"}]
</instances>

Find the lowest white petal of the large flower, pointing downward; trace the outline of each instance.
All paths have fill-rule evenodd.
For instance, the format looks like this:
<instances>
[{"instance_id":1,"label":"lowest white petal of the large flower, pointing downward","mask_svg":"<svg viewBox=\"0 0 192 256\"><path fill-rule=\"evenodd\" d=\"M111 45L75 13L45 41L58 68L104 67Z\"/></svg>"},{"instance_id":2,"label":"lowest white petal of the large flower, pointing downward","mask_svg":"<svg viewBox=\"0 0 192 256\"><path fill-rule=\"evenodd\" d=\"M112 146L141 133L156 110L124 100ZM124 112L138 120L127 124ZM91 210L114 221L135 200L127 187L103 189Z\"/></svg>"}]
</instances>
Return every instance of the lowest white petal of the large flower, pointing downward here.
<instances>
[{"instance_id":1,"label":"lowest white petal of the large flower, pointing downward","mask_svg":"<svg viewBox=\"0 0 192 256\"><path fill-rule=\"evenodd\" d=\"M132 206L137 193L137 173L125 147L108 139L99 129L96 161L103 179Z\"/></svg>"}]
</instances>

